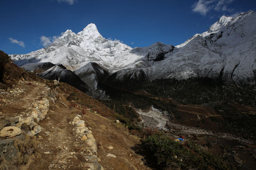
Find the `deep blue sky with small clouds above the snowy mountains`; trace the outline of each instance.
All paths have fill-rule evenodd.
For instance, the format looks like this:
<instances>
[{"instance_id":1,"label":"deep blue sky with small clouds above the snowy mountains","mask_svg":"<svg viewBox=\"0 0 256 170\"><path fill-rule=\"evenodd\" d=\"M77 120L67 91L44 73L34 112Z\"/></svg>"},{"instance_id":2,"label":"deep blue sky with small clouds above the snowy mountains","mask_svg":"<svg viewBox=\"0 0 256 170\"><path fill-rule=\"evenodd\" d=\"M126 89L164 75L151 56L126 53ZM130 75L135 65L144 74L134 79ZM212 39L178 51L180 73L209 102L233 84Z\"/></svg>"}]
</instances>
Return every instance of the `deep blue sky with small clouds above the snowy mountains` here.
<instances>
[{"instance_id":1,"label":"deep blue sky with small clouds above the snowy mountains","mask_svg":"<svg viewBox=\"0 0 256 170\"><path fill-rule=\"evenodd\" d=\"M256 11L256 0L1 0L0 50L26 54L47 44L42 36L78 33L90 23L133 48L179 45L222 15L248 10Z\"/></svg>"}]
</instances>

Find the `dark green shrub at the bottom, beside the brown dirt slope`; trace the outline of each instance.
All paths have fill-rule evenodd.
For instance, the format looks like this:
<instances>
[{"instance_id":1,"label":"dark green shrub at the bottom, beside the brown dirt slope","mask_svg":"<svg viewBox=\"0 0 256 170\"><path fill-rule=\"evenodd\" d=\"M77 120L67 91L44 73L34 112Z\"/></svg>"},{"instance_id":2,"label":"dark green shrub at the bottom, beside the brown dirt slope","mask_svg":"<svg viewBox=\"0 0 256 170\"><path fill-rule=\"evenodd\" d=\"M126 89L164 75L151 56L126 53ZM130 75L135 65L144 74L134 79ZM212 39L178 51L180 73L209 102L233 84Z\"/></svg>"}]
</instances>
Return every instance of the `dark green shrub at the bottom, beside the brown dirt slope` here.
<instances>
[{"instance_id":1,"label":"dark green shrub at the bottom, beside the brown dirt slope","mask_svg":"<svg viewBox=\"0 0 256 170\"><path fill-rule=\"evenodd\" d=\"M192 142L175 142L168 136L155 133L143 140L164 169L233 170L220 156L205 152Z\"/></svg>"}]
</instances>

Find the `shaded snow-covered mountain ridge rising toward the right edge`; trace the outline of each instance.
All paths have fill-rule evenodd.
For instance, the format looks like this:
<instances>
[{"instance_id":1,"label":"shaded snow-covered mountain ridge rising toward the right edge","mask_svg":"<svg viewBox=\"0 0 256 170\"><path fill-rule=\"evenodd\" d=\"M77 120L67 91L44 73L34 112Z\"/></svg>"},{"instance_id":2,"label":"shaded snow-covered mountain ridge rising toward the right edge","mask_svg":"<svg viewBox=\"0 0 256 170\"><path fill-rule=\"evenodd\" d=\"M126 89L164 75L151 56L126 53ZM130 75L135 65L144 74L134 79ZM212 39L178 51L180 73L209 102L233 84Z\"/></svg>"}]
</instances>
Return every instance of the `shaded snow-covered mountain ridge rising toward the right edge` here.
<instances>
[{"instance_id":1,"label":"shaded snow-covered mountain ridge rising toward the right edge","mask_svg":"<svg viewBox=\"0 0 256 170\"><path fill-rule=\"evenodd\" d=\"M208 77L236 84L255 83L256 13L248 11L236 18L222 16L207 32L195 34L176 48L164 54L164 59L155 65L132 66L112 77L120 80Z\"/></svg>"}]
</instances>

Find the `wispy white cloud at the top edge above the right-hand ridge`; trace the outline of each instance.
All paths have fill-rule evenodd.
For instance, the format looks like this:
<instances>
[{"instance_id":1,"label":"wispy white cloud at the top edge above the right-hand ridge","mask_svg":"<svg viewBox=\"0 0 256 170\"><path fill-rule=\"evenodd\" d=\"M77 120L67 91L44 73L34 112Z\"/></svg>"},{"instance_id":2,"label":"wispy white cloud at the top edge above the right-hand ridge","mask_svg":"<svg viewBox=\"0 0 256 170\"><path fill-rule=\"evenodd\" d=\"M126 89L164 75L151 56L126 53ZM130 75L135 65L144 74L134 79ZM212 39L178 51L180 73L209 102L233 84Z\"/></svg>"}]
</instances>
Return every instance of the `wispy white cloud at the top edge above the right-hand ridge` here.
<instances>
[{"instance_id":1,"label":"wispy white cloud at the top edge above the right-hand ridge","mask_svg":"<svg viewBox=\"0 0 256 170\"><path fill-rule=\"evenodd\" d=\"M192 6L193 12L206 16L210 10L214 11L234 11L233 8L229 8L228 5L233 3L234 0L198 0Z\"/></svg>"}]
</instances>

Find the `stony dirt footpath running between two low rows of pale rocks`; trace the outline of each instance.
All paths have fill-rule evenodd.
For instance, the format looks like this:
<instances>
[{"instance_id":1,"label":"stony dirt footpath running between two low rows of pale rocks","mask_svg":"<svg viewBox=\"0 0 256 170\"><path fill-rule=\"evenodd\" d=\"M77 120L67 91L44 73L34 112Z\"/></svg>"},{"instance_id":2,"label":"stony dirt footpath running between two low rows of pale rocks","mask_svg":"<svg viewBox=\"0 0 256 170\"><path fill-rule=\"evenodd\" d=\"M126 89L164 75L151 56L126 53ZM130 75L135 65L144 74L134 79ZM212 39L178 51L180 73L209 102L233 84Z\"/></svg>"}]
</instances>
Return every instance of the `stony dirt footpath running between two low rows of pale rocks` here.
<instances>
[{"instance_id":1,"label":"stony dirt footpath running between two low rows of pale rocks","mask_svg":"<svg viewBox=\"0 0 256 170\"><path fill-rule=\"evenodd\" d=\"M36 158L29 170L84 169L86 154L82 152L85 144L76 137L73 125L68 123L71 112L69 108L50 111L49 117L42 122Z\"/></svg>"}]
</instances>

